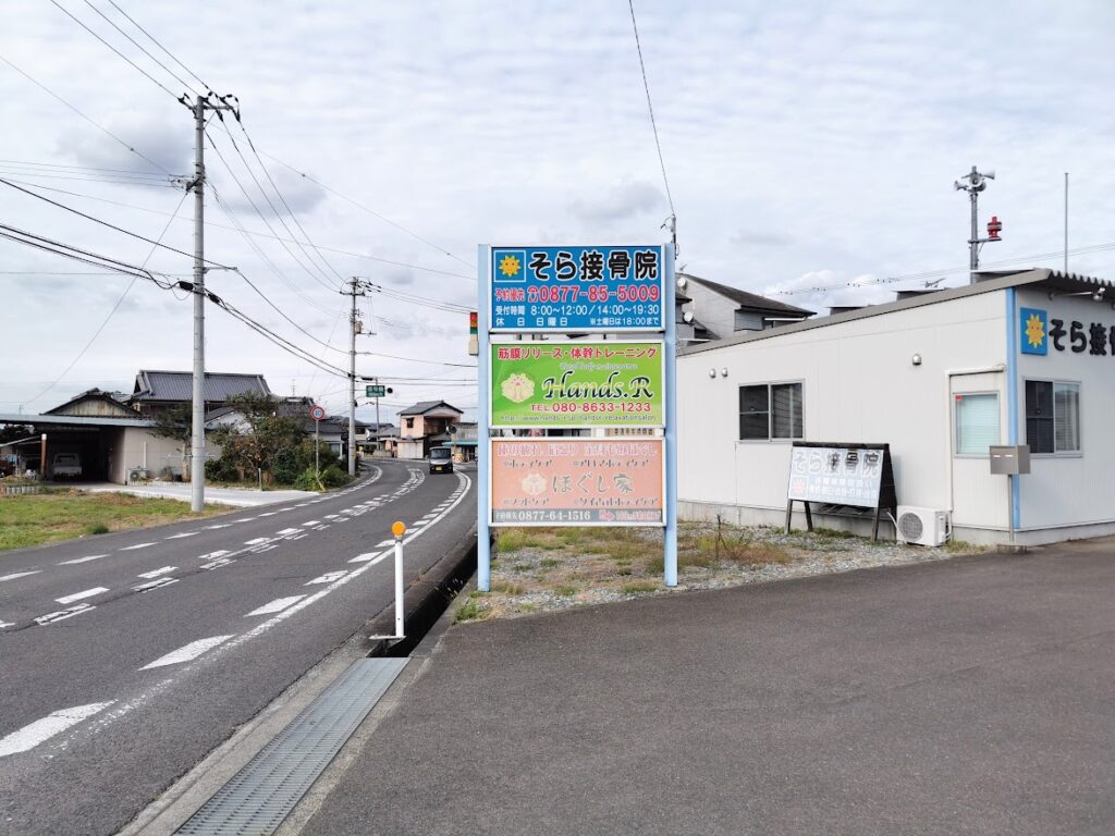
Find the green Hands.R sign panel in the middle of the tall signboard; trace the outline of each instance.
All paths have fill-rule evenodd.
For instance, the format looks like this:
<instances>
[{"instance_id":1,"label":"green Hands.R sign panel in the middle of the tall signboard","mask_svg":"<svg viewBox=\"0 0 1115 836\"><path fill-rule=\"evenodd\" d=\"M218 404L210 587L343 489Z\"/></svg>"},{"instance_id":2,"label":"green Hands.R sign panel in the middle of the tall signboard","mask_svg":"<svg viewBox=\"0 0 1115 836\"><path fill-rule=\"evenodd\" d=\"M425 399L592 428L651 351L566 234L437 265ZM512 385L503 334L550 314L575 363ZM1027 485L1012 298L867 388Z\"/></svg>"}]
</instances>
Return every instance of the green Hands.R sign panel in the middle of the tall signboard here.
<instances>
[{"instance_id":1,"label":"green Hands.R sign panel in the middle of the tall signboard","mask_svg":"<svg viewBox=\"0 0 1115 836\"><path fill-rule=\"evenodd\" d=\"M493 427L662 427L661 342L516 342L492 351Z\"/></svg>"}]
</instances>

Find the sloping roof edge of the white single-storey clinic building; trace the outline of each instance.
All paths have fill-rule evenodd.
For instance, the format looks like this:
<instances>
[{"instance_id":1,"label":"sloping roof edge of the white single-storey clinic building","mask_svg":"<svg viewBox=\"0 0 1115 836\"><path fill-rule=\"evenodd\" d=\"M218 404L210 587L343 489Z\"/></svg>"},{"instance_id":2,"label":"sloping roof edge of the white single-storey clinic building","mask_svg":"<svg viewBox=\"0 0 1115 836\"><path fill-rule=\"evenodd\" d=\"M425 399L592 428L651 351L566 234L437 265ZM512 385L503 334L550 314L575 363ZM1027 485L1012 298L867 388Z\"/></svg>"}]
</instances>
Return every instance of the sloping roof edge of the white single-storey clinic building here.
<instances>
[{"instance_id":1,"label":"sloping roof edge of the white single-storey clinic building","mask_svg":"<svg viewBox=\"0 0 1115 836\"><path fill-rule=\"evenodd\" d=\"M883 304L866 305L845 313L837 313L828 317L816 317L814 319L803 320L802 322L792 322L767 331L749 331L747 333L729 337L725 340L691 346L680 350L679 354L697 354L702 351L712 351L728 346L736 346L741 342L752 342L753 340L770 340L784 337L785 334L796 333L797 331L809 331L814 328L827 328L828 325L853 322L859 319L867 319L869 317L882 317L894 311L905 311L911 308L921 308L927 304L939 304L940 302L949 302L953 299L976 297L981 293L993 293L996 291L1007 290L1008 288L1021 288L1030 284L1041 284L1045 288L1048 288L1050 292L1061 291L1065 293L1092 293L1103 291L1105 299L1115 301L1115 283L1112 283L1106 279L1096 279L1089 275L1079 275L1077 273L1061 273L1057 270L1049 270L1047 268L1029 268L1027 270L1019 271L1002 270L995 272L979 272L976 274L975 284L964 284L959 288L947 288L933 293L920 293L912 298L899 299L894 302L885 302Z\"/></svg>"}]
</instances>

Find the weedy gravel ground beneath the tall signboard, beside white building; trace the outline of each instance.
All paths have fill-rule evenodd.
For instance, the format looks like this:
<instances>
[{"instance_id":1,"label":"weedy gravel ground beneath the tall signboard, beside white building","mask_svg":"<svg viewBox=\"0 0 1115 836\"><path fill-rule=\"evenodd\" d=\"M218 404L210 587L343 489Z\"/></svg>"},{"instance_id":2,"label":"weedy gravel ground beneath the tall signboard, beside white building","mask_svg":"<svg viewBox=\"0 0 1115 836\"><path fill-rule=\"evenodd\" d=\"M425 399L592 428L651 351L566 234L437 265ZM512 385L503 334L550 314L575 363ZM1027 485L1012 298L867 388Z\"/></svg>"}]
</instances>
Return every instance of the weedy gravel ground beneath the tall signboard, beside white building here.
<instances>
[{"instance_id":1,"label":"weedy gravel ground beneath the tall signboard, beside white building","mask_svg":"<svg viewBox=\"0 0 1115 836\"><path fill-rule=\"evenodd\" d=\"M517 618L644 595L715 590L808 575L941 561L982 551L874 543L820 529L683 523L678 585L662 585L661 529L503 529L493 556L492 592L462 596L457 620Z\"/></svg>"}]
</instances>

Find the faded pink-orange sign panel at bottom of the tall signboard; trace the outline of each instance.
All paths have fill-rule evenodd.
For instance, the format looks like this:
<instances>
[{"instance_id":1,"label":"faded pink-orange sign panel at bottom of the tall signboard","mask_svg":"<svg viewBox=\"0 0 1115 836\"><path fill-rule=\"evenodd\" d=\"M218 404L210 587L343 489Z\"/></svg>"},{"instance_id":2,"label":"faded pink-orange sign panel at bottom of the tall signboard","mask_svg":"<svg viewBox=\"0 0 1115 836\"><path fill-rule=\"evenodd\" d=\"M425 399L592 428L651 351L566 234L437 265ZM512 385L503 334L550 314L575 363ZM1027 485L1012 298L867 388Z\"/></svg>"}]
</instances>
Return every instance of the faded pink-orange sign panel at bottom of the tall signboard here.
<instances>
[{"instance_id":1,"label":"faded pink-orange sign panel at bottom of the tall signboard","mask_svg":"<svg viewBox=\"0 0 1115 836\"><path fill-rule=\"evenodd\" d=\"M661 438L493 438L491 525L666 525Z\"/></svg>"}]
</instances>

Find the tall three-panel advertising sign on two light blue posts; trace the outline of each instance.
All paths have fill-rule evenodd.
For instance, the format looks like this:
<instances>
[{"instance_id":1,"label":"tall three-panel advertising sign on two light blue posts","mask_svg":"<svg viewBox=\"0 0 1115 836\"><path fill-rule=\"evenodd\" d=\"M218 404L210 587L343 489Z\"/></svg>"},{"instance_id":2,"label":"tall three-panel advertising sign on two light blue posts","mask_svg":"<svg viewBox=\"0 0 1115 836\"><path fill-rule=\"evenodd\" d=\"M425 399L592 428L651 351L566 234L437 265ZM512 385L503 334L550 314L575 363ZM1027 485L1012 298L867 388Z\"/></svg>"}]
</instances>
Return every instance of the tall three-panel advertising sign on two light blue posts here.
<instances>
[{"instance_id":1,"label":"tall three-panel advertising sign on two light blue posts","mask_svg":"<svg viewBox=\"0 0 1115 836\"><path fill-rule=\"evenodd\" d=\"M676 585L672 246L481 246L478 272L479 589L504 525L662 526Z\"/></svg>"}]
</instances>

